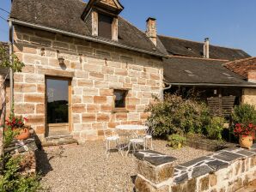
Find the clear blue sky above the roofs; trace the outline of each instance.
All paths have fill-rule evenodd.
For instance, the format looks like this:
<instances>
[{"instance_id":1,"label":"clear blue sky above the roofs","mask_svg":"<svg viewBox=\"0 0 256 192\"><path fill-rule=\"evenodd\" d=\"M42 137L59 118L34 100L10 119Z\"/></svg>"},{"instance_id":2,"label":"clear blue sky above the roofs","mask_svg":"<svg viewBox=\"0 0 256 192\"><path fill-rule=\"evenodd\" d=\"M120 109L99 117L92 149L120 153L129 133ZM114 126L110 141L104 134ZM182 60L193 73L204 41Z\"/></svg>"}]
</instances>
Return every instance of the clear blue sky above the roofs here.
<instances>
[{"instance_id":1,"label":"clear blue sky above the roofs","mask_svg":"<svg viewBox=\"0 0 256 192\"><path fill-rule=\"evenodd\" d=\"M43 0L42 0L43 1ZM0 8L9 10L10 0ZM87 1L85 1L87 2ZM149 16L157 19L159 34L240 48L256 56L256 1L254 0L120 0L121 13L141 30ZM4 18L8 14L0 10ZM8 25L0 19L0 41L8 40Z\"/></svg>"}]
</instances>

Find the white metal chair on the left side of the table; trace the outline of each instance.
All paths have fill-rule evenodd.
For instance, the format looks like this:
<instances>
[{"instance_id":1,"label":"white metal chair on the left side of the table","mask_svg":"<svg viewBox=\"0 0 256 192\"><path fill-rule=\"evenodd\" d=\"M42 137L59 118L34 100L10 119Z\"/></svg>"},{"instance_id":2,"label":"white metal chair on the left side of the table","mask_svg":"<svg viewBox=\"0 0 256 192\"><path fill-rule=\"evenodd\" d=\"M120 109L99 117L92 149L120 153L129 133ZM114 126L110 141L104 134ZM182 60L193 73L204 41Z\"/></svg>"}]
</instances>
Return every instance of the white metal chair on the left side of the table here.
<instances>
[{"instance_id":1,"label":"white metal chair on the left side of the table","mask_svg":"<svg viewBox=\"0 0 256 192\"><path fill-rule=\"evenodd\" d=\"M107 157L110 154L110 151L113 149L117 149L119 151L119 153L121 155L122 152L120 150L120 137L119 135L116 133L116 129L103 129L104 132L104 138L105 138L105 147L106 147L106 151L105 154L107 155ZM115 145L115 147L111 147L111 143L113 143Z\"/></svg>"}]
</instances>

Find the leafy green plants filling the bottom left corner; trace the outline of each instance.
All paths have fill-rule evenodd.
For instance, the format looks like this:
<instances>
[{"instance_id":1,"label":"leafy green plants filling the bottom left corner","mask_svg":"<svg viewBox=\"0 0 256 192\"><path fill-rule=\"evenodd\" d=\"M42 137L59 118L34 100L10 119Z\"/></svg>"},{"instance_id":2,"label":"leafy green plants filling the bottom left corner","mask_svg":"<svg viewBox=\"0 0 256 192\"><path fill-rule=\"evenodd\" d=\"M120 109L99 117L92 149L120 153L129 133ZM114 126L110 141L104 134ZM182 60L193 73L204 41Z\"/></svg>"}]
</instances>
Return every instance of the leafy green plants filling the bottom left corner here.
<instances>
[{"instance_id":1,"label":"leafy green plants filling the bottom left corner","mask_svg":"<svg viewBox=\"0 0 256 192\"><path fill-rule=\"evenodd\" d=\"M3 192L35 192L40 189L37 176L21 175L21 158L9 158L0 176L0 191Z\"/></svg>"}]
</instances>

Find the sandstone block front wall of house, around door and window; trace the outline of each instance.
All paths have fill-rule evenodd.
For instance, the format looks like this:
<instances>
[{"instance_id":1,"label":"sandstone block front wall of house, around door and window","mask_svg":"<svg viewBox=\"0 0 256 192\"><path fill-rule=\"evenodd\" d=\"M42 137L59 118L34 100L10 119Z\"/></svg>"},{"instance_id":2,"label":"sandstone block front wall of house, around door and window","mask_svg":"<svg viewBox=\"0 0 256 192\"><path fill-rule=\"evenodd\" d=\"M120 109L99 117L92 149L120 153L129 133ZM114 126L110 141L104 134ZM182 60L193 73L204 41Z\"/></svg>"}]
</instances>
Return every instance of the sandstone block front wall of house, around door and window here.
<instances>
[{"instance_id":1,"label":"sandstone block front wall of house, around door and window","mask_svg":"<svg viewBox=\"0 0 256 192\"><path fill-rule=\"evenodd\" d=\"M44 141L46 75L71 80L71 132L79 141L97 139L102 129L142 123L152 94L162 90L160 58L27 27L15 26L15 54L26 67L15 78L15 113ZM58 57L64 57L60 65ZM127 111L113 111L113 88L129 90Z\"/></svg>"}]
</instances>

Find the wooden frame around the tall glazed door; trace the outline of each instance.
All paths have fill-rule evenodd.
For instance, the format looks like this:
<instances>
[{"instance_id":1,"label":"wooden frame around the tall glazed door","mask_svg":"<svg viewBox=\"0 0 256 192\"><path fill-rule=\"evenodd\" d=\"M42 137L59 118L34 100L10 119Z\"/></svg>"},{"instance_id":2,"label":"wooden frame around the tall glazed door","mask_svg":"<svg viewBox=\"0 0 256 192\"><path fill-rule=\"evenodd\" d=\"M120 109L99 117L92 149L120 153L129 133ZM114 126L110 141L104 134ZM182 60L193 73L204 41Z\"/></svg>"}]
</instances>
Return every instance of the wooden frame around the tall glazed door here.
<instances>
[{"instance_id":1,"label":"wooden frame around the tall glazed door","mask_svg":"<svg viewBox=\"0 0 256 192\"><path fill-rule=\"evenodd\" d=\"M72 98L71 98L71 95L72 95L72 87L71 87L71 81L72 81L72 78L69 78L69 77L62 77L62 76L52 76L52 75L46 75L45 76L45 87L46 87L46 90L45 90L45 116L46 116L46 132L45 132L45 135L46 137L47 136L50 136L49 134L49 124L47 123L47 79L52 79L52 80L63 80L63 81L68 81L69 82L69 87L68 87L68 99L69 99L69 123L68 123L68 126L69 126L69 133L72 132L72 123L71 123L71 120L72 120L72 111L71 111L71 105L72 105ZM51 123L50 123L51 124ZM61 124L61 123L60 123Z\"/></svg>"}]
</instances>

